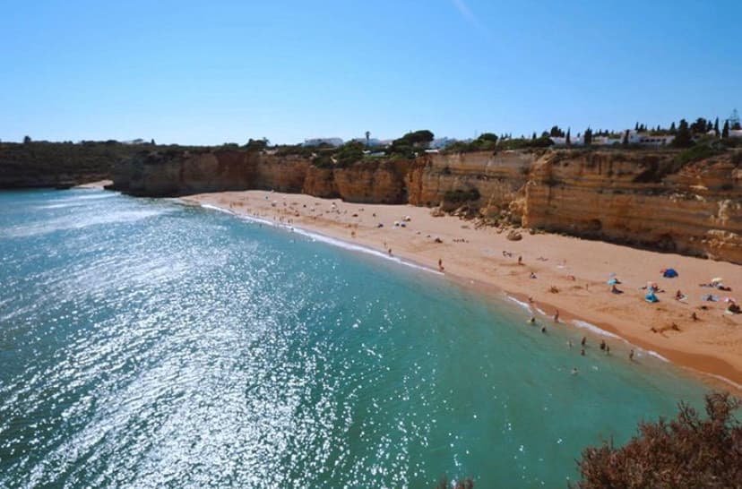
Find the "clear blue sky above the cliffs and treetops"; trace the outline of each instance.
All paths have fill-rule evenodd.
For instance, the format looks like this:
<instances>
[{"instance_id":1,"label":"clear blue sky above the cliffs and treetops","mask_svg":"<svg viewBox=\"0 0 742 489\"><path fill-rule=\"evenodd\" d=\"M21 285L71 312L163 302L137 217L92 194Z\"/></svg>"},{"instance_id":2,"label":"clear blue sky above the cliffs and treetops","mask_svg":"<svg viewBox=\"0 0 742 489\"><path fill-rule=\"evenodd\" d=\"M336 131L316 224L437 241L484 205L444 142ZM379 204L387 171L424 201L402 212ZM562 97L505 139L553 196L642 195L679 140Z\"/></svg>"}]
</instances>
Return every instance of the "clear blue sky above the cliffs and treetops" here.
<instances>
[{"instance_id":1,"label":"clear blue sky above the cliffs and treetops","mask_svg":"<svg viewBox=\"0 0 742 489\"><path fill-rule=\"evenodd\" d=\"M742 1L0 2L0 139L574 133L742 110Z\"/></svg>"}]
</instances>

